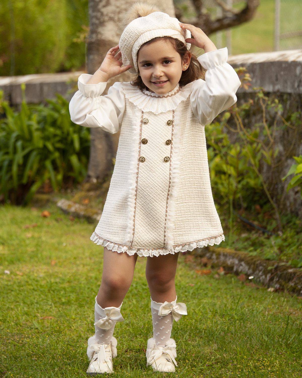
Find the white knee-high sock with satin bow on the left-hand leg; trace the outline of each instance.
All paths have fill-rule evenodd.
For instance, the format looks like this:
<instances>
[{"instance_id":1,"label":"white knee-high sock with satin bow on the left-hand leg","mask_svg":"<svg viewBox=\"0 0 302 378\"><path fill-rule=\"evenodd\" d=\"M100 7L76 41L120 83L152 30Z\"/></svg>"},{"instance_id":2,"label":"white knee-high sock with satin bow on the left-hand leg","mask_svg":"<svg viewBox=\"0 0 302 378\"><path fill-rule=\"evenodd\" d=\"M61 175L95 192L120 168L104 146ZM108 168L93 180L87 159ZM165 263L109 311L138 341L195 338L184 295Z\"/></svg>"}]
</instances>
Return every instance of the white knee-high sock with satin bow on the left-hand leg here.
<instances>
[{"instance_id":1,"label":"white knee-high sock with satin bow on the left-hand leg","mask_svg":"<svg viewBox=\"0 0 302 378\"><path fill-rule=\"evenodd\" d=\"M116 322L124 320L120 313L122 304L119 307L102 308L95 298L94 327L98 344L108 344L112 340Z\"/></svg>"}]
</instances>

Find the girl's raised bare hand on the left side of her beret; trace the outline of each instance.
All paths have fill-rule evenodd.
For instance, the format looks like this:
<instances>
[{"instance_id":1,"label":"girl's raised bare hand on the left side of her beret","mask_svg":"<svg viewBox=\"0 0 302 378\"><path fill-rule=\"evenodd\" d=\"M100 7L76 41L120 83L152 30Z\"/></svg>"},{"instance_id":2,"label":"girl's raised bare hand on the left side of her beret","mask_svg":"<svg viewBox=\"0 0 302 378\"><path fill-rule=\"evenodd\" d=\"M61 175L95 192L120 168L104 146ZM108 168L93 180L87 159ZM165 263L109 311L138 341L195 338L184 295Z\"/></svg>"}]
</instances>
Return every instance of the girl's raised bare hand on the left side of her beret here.
<instances>
[{"instance_id":1,"label":"girl's raised bare hand on the left side of her beret","mask_svg":"<svg viewBox=\"0 0 302 378\"><path fill-rule=\"evenodd\" d=\"M119 50L119 45L112 47L106 54L99 71L101 76L108 81L111 77L117 76L132 67L132 65L123 66L122 53Z\"/></svg>"}]
</instances>

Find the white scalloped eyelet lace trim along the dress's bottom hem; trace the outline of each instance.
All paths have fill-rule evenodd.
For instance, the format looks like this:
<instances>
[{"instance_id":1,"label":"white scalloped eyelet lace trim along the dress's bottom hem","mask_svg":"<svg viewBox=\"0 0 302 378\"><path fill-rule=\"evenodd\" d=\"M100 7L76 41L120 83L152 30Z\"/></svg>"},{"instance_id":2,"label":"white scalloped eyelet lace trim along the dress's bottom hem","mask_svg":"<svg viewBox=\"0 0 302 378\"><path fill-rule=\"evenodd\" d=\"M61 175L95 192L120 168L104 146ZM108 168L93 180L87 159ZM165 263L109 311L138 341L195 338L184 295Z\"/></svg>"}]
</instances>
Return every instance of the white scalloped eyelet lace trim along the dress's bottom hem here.
<instances>
[{"instance_id":1,"label":"white scalloped eyelet lace trim along the dress's bottom hem","mask_svg":"<svg viewBox=\"0 0 302 378\"><path fill-rule=\"evenodd\" d=\"M136 253L138 254L138 256L141 256L141 257L142 256L152 257L152 256L166 255L168 253L175 254L177 252L193 251L193 249L195 248L202 248L208 245L220 244L222 241L225 241L225 236L223 234L220 234L218 236L210 237L208 239L197 240L196 242L188 243L185 245L175 245L173 246L172 250L168 250L165 248L143 249L143 248L135 248L132 246L126 246L123 244L117 244L117 243L111 242L110 240L103 239L101 236L96 234L96 232L93 232L93 234L90 237L90 240L92 240L97 245L102 245L106 247L110 251L116 251L118 253L126 252L130 256L133 256Z\"/></svg>"}]
</instances>

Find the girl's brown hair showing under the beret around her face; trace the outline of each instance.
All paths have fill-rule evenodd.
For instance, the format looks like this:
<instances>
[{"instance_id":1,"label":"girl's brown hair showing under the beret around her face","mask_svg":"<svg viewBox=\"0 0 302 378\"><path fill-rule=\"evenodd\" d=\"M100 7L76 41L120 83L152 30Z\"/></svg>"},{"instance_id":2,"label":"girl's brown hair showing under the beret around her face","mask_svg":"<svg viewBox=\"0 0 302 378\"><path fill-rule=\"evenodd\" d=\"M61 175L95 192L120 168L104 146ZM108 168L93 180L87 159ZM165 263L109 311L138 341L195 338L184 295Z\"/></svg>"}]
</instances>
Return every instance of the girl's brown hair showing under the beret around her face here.
<instances>
[{"instance_id":1,"label":"girl's brown hair showing under the beret around her face","mask_svg":"<svg viewBox=\"0 0 302 378\"><path fill-rule=\"evenodd\" d=\"M175 50L178 52L178 54L180 54L182 61L183 61L184 56L188 52L186 45L183 42L181 42L178 39L172 38L172 37L156 37L156 38L150 39L150 41L148 41L148 42L145 42L142 46L149 45L149 43L152 43L155 40L166 40L166 41L172 43L172 46L175 48ZM204 69L201 66L201 64L198 62L197 57L194 54L192 54L189 67L187 68L186 71L183 71L183 73L181 74L179 85L180 85L180 87L183 87L184 85L189 84L190 82L197 80L197 79L204 79ZM136 76L135 76L134 80L131 82L131 84L133 86L138 87L140 90L143 90L143 89L148 90L149 89L143 83L141 77L139 76L139 72L136 74Z\"/></svg>"}]
</instances>

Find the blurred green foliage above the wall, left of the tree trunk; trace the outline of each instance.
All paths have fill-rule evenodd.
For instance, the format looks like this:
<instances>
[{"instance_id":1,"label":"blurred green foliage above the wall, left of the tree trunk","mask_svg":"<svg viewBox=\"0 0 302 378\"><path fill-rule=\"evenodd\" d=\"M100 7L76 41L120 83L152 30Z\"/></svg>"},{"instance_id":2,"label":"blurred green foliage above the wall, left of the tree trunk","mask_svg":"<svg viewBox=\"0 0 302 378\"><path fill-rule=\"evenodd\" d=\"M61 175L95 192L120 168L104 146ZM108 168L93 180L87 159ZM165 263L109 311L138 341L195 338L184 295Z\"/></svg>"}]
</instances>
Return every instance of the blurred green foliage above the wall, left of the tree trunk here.
<instances>
[{"instance_id":1,"label":"blurred green foliage above the wall, left of the tree trunk","mask_svg":"<svg viewBox=\"0 0 302 378\"><path fill-rule=\"evenodd\" d=\"M0 75L68 71L85 65L88 0L3 0Z\"/></svg>"}]
</instances>

